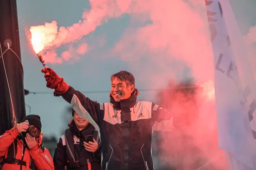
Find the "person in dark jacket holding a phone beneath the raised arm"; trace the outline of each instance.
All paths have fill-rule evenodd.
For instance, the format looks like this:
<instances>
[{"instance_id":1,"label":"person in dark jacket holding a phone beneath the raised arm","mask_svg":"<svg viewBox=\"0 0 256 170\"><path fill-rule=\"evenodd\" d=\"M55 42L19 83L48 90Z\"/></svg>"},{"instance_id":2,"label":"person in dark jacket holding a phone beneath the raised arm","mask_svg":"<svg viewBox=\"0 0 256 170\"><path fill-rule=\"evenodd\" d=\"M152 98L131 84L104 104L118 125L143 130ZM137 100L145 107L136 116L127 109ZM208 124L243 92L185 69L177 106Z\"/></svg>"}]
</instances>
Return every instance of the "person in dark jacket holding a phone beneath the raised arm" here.
<instances>
[{"instance_id":1,"label":"person in dark jacket holding a phone beneath the raised arm","mask_svg":"<svg viewBox=\"0 0 256 170\"><path fill-rule=\"evenodd\" d=\"M101 170L98 132L74 110L72 116L54 152L55 170Z\"/></svg>"}]
</instances>

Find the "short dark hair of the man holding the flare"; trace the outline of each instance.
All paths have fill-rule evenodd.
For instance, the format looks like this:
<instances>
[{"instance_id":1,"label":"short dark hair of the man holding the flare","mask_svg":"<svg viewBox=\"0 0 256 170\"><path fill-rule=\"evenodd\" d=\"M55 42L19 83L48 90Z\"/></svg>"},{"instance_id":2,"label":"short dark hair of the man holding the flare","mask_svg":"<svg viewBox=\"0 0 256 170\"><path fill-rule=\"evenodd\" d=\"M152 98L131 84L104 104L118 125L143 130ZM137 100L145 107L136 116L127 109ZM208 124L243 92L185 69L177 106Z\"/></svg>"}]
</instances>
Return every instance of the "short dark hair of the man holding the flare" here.
<instances>
[{"instance_id":1,"label":"short dark hair of the man holding the flare","mask_svg":"<svg viewBox=\"0 0 256 170\"><path fill-rule=\"evenodd\" d=\"M135 79L132 73L128 71L119 71L111 76L111 82L114 78L126 82L126 85L135 85Z\"/></svg>"}]
</instances>

